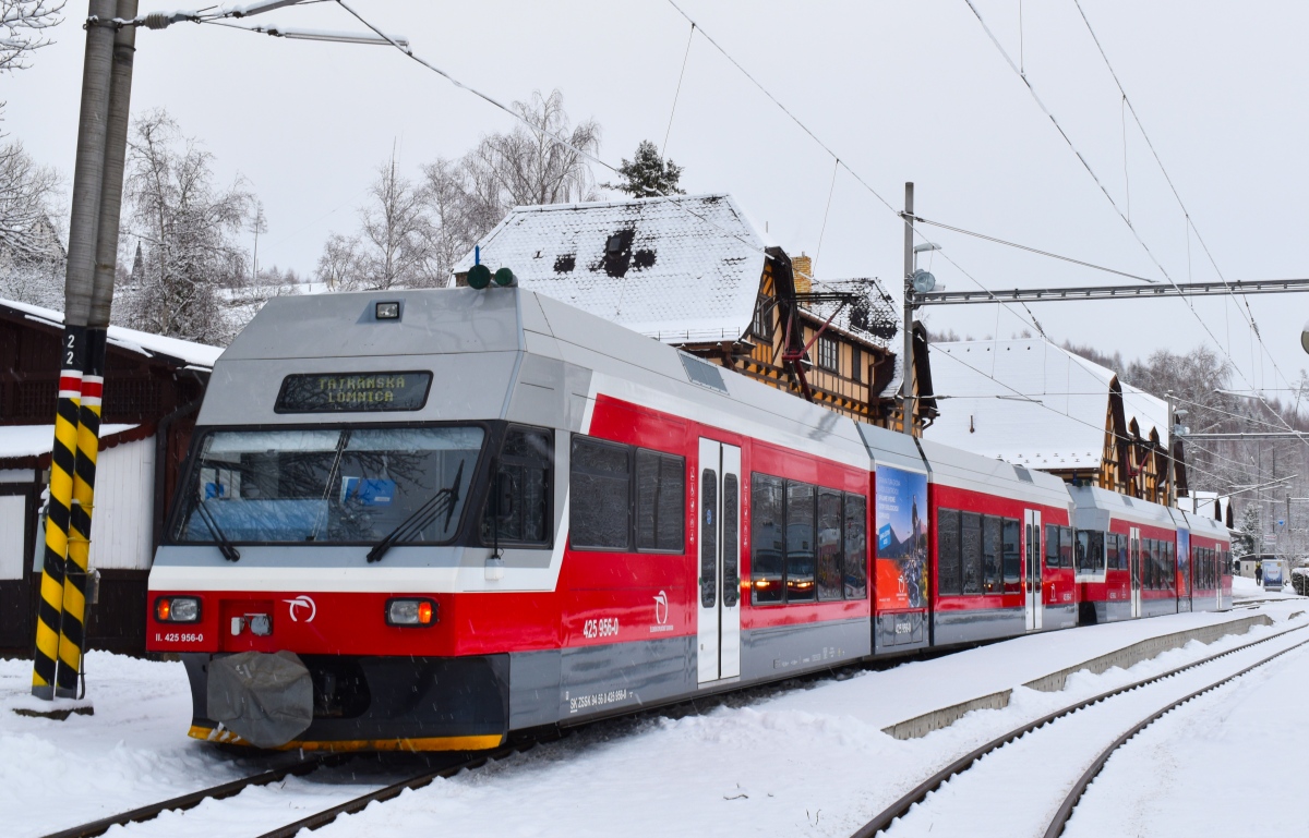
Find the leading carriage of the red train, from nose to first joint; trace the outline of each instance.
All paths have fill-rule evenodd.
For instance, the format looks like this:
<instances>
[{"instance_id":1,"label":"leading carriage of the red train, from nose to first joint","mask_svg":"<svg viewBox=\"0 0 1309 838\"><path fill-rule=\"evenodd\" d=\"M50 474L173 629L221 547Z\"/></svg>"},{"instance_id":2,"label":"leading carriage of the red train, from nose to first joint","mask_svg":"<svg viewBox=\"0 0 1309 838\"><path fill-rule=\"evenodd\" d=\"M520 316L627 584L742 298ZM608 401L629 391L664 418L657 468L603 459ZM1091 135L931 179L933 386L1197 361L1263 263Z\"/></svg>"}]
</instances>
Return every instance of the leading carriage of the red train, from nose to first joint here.
<instances>
[{"instance_id":1,"label":"leading carriage of the red train, from nose to first joint","mask_svg":"<svg viewBox=\"0 0 1309 838\"><path fill-rule=\"evenodd\" d=\"M199 737L259 735L224 658L291 651L313 714L278 745L491 746L869 655L868 492L853 422L546 297L271 301L202 409L149 647Z\"/></svg>"}]
</instances>

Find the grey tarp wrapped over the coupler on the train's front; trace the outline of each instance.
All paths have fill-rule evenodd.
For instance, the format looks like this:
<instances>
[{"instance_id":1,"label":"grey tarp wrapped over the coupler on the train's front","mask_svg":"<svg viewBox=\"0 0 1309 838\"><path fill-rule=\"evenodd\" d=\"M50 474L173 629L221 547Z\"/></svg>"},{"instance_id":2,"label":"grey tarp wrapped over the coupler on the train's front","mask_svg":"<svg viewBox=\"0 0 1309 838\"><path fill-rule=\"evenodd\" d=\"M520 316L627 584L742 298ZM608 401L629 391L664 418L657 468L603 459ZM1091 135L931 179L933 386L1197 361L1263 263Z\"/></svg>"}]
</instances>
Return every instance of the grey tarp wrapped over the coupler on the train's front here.
<instances>
[{"instance_id":1,"label":"grey tarp wrapped over the coupler on the train's front","mask_svg":"<svg viewBox=\"0 0 1309 838\"><path fill-rule=\"evenodd\" d=\"M295 652L215 658L208 693L208 716L257 748L285 745L314 718L313 681Z\"/></svg>"}]
</instances>

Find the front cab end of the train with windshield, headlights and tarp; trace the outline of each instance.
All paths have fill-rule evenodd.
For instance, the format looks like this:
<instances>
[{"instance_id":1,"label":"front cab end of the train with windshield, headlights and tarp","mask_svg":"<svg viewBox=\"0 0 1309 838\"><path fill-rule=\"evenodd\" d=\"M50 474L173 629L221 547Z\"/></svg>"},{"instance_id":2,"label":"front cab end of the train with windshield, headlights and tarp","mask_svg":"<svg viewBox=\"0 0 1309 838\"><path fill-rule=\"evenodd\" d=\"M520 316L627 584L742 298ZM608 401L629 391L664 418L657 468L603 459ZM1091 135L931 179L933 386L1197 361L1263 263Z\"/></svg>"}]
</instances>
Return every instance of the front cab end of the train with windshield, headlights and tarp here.
<instances>
[{"instance_id":1,"label":"front cab end of the train with windshield, headlights and tarp","mask_svg":"<svg viewBox=\"0 0 1309 838\"><path fill-rule=\"evenodd\" d=\"M517 303L512 289L275 299L224 353L149 579L148 648L182 656L192 736L505 740L507 652L552 639L548 621L514 624L530 592L486 596L504 566L550 553L516 548L517 531L499 544L501 522L521 529L521 506L546 502L552 459L548 427L505 420ZM507 444L516 482L491 480Z\"/></svg>"}]
</instances>

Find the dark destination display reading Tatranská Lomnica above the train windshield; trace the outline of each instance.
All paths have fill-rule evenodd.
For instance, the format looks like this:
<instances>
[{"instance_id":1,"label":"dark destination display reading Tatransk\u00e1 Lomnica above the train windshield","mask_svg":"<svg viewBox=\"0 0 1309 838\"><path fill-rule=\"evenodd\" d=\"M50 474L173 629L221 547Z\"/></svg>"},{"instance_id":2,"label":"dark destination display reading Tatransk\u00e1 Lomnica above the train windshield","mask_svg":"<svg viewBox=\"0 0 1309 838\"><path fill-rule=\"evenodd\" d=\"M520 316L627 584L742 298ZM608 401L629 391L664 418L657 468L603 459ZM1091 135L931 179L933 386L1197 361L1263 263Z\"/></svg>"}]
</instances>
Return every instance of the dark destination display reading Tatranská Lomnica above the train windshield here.
<instances>
[{"instance_id":1,"label":"dark destination display reading Tatransk\u00e1 Lomnica above the train windshield","mask_svg":"<svg viewBox=\"0 0 1309 838\"><path fill-rule=\"evenodd\" d=\"M278 413L357 413L421 411L431 373L310 373L288 375Z\"/></svg>"}]
</instances>

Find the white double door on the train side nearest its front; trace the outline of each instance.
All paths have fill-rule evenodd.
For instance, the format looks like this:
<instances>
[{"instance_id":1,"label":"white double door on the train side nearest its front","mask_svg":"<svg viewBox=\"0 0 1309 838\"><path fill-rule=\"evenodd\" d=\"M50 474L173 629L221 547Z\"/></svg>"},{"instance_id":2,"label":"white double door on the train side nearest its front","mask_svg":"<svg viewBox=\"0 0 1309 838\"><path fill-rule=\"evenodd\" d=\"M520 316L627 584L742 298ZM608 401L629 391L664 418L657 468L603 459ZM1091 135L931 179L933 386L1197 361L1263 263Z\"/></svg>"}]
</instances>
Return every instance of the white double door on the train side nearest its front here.
<instances>
[{"instance_id":1,"label":"white double door on the train side nearest its front","mask_svg":"<svg viewBox=\"0 0 1309 838\"><path fill-rule=\"evenodd\" d=\"M700 439L699 682L741 675L741 448Z\"/></svg>"}]
</instances>

